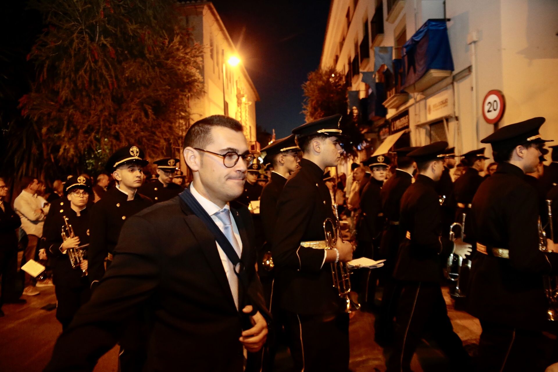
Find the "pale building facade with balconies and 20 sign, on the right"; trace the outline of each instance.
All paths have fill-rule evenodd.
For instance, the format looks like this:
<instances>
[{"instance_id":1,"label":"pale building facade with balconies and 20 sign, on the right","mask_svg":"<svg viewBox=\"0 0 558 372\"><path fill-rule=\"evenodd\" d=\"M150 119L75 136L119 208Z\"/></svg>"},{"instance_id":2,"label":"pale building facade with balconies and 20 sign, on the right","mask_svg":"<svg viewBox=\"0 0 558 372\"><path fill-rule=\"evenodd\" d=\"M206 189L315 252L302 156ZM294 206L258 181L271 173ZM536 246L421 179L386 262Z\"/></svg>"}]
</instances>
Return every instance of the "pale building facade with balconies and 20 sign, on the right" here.
<instances>
[{"instance_id":1,"label":"pale building facade with balconies and 20 sign, on the right","mask_svg":"<svg viewBox=\"0 0 558 372\"><path fill-rule=\"evenodd\" d=\"M461 154L537 116L558 141L556 19L554 0L333 0L320 66L346 74L368 152L448 141Z\"/></svg>"}]
</instances>

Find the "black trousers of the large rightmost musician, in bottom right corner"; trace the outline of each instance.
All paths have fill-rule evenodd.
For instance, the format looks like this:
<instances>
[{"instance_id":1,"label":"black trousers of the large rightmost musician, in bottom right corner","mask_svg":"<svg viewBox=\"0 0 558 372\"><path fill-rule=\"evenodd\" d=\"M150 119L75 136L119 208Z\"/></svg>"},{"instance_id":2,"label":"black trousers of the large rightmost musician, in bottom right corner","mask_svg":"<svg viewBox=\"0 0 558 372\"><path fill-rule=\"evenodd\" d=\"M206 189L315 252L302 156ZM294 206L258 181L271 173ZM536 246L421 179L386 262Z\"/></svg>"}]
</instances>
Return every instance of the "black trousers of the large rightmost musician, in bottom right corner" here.
<instances>
[{"instance_id":1,"label":"black trousers of the large rightmost musician, in bottom right corner","mask_svg":"<svg viewBox=\"0 0 558 372\"><path fill-rule=\"evenodd\" d=\"M556 336L480 320L476 371L543 372L558 362Z\"/></svg>"}]
</instances>

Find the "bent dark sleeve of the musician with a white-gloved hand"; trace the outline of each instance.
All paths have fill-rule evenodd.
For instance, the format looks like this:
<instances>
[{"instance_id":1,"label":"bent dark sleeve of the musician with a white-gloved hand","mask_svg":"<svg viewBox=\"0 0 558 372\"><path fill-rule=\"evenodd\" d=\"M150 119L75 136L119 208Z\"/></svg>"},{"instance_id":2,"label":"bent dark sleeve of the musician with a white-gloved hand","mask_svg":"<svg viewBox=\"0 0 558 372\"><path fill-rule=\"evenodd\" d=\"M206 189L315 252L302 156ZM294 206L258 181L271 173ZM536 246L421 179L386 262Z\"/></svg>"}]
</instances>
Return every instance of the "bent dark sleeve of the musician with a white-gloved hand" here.
<instances>
[{"instance_id":1,"label":"bent dark sleeve of the musician with a white-gloved hand","mask_svg":"<svg viewBox=\"0 0 558 372\"><path fill-rule=\"evenodd\" d=\"M410 231L413 247L426 254L449 255L454 244L445 236L440 236L440 206L435 195L423 194L416 200L414 230Z\"/></svg>"}]
</instances>

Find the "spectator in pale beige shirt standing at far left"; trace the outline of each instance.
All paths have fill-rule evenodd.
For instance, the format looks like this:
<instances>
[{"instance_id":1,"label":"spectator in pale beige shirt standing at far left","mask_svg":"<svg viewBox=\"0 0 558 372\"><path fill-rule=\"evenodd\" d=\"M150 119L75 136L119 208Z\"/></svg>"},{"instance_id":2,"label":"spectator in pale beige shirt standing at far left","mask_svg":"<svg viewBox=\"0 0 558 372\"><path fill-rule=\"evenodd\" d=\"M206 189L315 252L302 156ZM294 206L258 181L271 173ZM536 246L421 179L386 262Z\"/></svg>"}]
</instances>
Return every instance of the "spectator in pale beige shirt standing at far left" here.
<instances>
[{"instance_id":1,"label":"spectator in pale beige shirt standing at far left","mask_svg":"<svg viewBox=\"0 0 558 372\"><path fill-rule=\"evenodd\" d=\"M37 243L42 236L42 227L45 223L47 212L42 209L41 200L36 197L39 189L39 180L35 177L25 176L21 180L23 190L13 202L13 207L21 219L21 228L27 235L27 246L25 248L25 260L35 259ZM20 234L21 235L21 234ZM35 296L39 291L35 288L33 278L25 274L25 289L23 294Z\"/></svg>"}]
</instances>

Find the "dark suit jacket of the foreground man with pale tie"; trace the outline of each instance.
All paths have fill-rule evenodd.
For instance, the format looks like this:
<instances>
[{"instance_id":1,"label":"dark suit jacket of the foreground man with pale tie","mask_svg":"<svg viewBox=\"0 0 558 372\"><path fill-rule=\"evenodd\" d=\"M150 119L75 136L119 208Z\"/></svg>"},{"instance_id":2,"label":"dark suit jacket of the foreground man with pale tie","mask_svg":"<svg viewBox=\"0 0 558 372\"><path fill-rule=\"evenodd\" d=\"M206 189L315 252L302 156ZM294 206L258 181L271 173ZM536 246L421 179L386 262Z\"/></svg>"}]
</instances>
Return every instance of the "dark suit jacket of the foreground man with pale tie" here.
<instances>
[{"instance_id":1,"label":"dark suit jacket of the foreground man with pale tie","mask_svg":"<svg viewBox=\"0 0 558 372\"><path fill-rule=\"evenodd\" d=\"M251 216L236 202L230 211L249 279L239 303L269 319L254 268ZM92 298L56 342L46 371L91 371L116 344L119 325L144 305L153 325L143 371L242 372L242 322L215 237L180 197L129 218L115 252Z\"/></svg>"}]
</instances>

